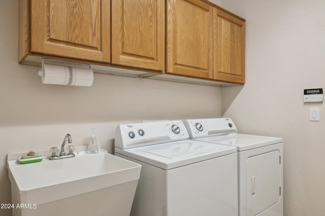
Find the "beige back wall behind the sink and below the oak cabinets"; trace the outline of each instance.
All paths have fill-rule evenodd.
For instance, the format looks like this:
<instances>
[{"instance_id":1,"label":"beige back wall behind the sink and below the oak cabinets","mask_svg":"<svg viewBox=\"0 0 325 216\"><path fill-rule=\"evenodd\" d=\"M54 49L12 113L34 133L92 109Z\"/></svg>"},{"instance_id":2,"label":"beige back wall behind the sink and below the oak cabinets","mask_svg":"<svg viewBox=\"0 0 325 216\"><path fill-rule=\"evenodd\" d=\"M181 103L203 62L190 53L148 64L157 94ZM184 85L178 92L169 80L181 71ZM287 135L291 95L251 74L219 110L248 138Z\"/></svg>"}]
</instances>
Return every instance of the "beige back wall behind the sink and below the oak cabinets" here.
<instances>
[{"instance_id":1,"label":"beige back wall behind the sink and below the oak cabinets","mask_svg":"<svg viewBox=\"0 0 325 216\"><path fill-rule=\"evenodd\" d=\"M90 88L42 84L39 68L17 63L18 1L1 0L0 29L0 203L11 203L8 153L59 147L67 133L85 145L91 127L113 152L119 123L221 117L218 87L104 74Z\"/></svg>"}]
</instances>

